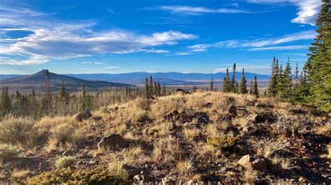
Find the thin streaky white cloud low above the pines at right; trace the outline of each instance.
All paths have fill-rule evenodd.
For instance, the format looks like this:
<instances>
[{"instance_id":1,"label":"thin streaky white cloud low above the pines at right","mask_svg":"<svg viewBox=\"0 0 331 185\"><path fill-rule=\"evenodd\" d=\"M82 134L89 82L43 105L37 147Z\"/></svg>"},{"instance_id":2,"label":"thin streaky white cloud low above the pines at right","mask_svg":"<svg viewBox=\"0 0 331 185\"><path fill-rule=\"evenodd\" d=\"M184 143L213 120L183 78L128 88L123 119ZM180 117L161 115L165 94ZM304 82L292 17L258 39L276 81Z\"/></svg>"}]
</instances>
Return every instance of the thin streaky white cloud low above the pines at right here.
<instances>
[{"instance_id":1,"label":"thin streaky white cloud low above the pines at right","mask_svg":"<svg viewBox=\"0 0 331 185\"><path fill-rule=\"evenodd\" d=\"M212 44L200 44L187 47L192 52L206 51L211 48L240 48L247 49L248 51L263 51L263 50L289 50L289 49L302 49L307 48L307 45L301 46L279 46L270 47L274 45L280 45L284 43L294 42L297 40L312 40L316 36L315 31L302 31L298 33L292 33L284 35L279 38L267 38L257 40L225 40Z\"/></svg>"}]
</instances>

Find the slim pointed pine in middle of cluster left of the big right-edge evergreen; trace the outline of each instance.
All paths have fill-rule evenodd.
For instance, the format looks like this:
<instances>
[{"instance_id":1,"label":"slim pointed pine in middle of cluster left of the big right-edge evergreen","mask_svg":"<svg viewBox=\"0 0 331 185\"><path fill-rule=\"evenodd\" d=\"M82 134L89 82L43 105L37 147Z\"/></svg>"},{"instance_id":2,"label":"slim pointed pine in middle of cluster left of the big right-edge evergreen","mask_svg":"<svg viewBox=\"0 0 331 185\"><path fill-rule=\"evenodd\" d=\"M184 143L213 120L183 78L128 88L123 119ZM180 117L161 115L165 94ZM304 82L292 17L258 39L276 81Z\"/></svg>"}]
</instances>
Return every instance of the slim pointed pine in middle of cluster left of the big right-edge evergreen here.
<instances>
[{"instance_id":1,"label":"slim pointed pine in middle of cluster left of the big right-edge evergreen","mask_svg":"<svg viewBox=\"0 0 331 185\"><path fill-rule=\"evenodd\" d=\"M286 67L284 69L284 92L283 99L288 101L292 97L293 82L292 82L292 69L290 67L290 59L287 59Z\"/></svg>"}]
</instances>

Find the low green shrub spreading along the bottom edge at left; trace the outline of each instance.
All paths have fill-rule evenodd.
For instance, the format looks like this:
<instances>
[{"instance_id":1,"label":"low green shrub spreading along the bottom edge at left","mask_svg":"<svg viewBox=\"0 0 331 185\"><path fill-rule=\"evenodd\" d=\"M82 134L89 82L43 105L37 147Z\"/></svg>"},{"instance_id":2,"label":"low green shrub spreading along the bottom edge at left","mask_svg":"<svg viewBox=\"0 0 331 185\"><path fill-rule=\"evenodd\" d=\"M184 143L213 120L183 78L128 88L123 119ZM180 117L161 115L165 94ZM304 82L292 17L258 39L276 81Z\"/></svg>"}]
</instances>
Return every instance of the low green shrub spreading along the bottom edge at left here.
<instances>
[{"instance_id":1,"label":"low green shrub spreading along the bottom edge at left","mask_svg":"<svg viewBox=\"0 0 331 185\"><path fill-rule=\"evenodd\" d=\"M62 168L43 172L31 179L27 184L122 184L123 179L117 179L109 173L106 168L87 168L72 170ZM126 182L127 183L127 182Z\"/></svg>"}]
</instances>

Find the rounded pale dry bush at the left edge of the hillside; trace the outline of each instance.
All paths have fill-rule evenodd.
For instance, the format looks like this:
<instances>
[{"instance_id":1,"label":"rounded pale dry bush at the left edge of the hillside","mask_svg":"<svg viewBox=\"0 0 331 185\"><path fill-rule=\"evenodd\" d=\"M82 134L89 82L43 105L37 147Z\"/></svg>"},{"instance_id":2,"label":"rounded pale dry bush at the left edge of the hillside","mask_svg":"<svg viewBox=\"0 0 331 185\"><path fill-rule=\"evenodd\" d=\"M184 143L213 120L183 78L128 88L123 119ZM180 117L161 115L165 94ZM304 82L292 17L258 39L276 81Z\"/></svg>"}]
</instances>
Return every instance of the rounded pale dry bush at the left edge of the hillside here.
<instances>
[{"instance_id":1,"label":"rounded pale dry bush at the left edge of the hillside","mask_svg":"<svg viewBox=\"0 0 331 185\"><path fill-rule=\"evenodd\" d=\"M36 122L27 118L8 118L0 122L0 141L23 147L34 142Z\"/></svg>"}]
</instances>

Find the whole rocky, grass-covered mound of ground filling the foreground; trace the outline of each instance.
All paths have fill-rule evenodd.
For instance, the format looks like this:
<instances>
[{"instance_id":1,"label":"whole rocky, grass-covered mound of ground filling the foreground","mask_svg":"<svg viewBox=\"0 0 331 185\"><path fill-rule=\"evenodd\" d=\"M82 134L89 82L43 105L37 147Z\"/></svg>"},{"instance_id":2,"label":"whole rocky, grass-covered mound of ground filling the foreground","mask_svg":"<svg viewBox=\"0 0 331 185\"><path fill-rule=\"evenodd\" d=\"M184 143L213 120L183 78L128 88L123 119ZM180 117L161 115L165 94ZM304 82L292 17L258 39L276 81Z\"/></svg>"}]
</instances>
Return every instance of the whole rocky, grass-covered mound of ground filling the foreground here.
<instances>
[{"instance_id":1,"label":"whole rocky, grass-covered mound of ground filling the foreground","mask_svg":"<svg viewBox=\"0 0 331 185\"><path fill-rule=\"evenodd\" d=\"M34 142L3 158L3 182L41 181L73 156L65 168L117 166L123 183L331 183L330 117L270 98L179 92L45 117L33 128Z\"/></svg>"}]
</instances>

